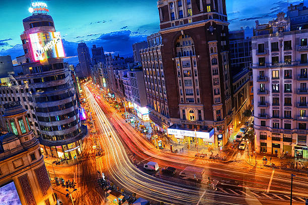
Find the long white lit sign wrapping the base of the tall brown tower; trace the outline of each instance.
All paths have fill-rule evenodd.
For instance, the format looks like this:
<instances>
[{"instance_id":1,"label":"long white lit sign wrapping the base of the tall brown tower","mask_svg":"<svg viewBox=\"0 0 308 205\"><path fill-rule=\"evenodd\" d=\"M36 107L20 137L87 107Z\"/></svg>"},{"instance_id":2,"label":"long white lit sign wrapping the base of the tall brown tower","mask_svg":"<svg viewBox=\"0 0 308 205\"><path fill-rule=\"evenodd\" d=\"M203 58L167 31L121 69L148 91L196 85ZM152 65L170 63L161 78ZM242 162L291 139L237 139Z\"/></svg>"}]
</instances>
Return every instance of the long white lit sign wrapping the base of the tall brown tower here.
<instances>
[{"instance_id":1,"label":"long white lit sign wrapping the base of the tall brown tower","mask_svg":"<svg viewBox=\"0 0 308 205\"><path fill-rule=\"evenodd\" d=\"M180 130L180 129L167 129L169 135L177 135L177 136L186 136L186 137L197 137L202 138L208 142L214 142L214 129L210 132L200 132L200 131L192 131L192 130Z\"/></svg>"}]
</instances>

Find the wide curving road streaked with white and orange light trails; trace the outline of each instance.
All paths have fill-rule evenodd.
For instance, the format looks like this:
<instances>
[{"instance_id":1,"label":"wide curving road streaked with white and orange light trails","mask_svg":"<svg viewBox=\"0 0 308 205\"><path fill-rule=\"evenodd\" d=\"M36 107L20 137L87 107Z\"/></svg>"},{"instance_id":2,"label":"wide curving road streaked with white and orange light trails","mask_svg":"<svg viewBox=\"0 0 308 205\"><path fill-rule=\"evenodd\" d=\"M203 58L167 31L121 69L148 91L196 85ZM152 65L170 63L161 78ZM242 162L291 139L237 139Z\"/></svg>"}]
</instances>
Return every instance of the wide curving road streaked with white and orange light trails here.
<instances>
[{"instance_id":1,"label":"wide curving road streaked with white and orange light trails","mask_svg":"<svg viewBox=\"0 0 308 205\"><path fill-rule=\"evenodd\" d=\"M106 101L94 98L90 89L85 87L84 90L97 118L99 142L105 149L104 157L97 160L98 167L116 184L121 184L120 188L166 204L289 203L290 173L259 169L242 162L220 163L159 151L126 124ZM136 162L140 163L132 163L132 153L135 153ZM220 184L217 191L213 191L208 189L206 181L195 185L178 177L152 176L141 168L149 160L158 162L160 166L174 166L179 171L188 165L203 167L206 176ZM296 196L307 196L307 184L304 175L294 179L293 204L303 203L304 199Z\"/></svg>"}]
</instances>

